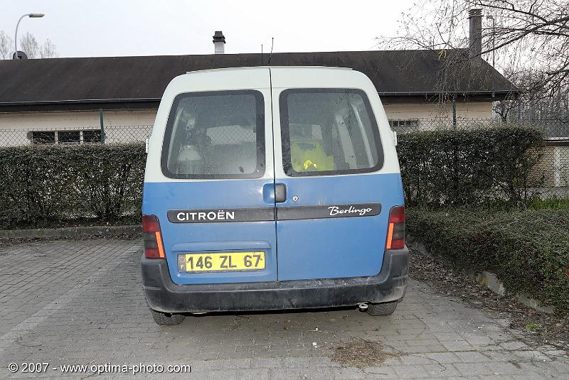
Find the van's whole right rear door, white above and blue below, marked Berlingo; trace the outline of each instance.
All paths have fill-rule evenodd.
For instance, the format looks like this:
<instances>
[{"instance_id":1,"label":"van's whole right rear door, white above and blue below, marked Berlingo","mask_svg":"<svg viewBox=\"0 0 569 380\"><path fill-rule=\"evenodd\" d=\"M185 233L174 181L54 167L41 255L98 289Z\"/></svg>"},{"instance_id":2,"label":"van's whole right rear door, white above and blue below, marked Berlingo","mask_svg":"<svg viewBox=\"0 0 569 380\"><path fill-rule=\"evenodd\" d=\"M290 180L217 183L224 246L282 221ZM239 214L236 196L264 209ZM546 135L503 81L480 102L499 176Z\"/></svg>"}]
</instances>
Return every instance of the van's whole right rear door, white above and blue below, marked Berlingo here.
<instances>
[{"instance_id":1,"label":"van's whole right rear door, white above and blue below, marked Berlingo","mask_svg":"<svg viewBox=\"0 0 569 380\"><path fill-rule=\"evenodd\" d=\"M341 69L272 68L271 80L275 184L287 192L276 203L279 281L376 275L403 194L394 149L397 173L382 172L376 112L387 119L373 85Z\"/></svg>"}]
</instances>

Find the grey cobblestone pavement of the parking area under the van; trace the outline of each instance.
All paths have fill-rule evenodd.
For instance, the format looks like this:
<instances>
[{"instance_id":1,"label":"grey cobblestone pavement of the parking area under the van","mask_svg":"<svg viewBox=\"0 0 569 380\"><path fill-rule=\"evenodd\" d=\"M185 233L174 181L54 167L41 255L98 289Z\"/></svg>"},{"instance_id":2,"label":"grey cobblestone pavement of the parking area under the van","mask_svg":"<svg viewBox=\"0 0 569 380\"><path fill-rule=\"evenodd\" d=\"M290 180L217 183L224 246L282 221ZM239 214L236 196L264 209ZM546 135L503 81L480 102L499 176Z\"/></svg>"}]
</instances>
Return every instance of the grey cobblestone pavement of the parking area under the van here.
<instances>
[{"instance_id":1,"label":"grey cobblestone pavement of the parking area under the van","mask_svg":"<svg viewBox=\"0 0 569 380\"><path fill-rule=\"evenodd\" d=\"M139 241L111 239L0 247L0 378L85 378L92 373L62 374L60 364L105 363L191 365L191 374L122 375L137 379L568 378L565 352L529 347L506 320L417 281L390 317L345 308L203 315L159 327L140 288L141 254ZM331 361L335 347L356 339L398 354L363 369ZM49 365L23 374L28 362Z\"/></svg>"}]
</instances>

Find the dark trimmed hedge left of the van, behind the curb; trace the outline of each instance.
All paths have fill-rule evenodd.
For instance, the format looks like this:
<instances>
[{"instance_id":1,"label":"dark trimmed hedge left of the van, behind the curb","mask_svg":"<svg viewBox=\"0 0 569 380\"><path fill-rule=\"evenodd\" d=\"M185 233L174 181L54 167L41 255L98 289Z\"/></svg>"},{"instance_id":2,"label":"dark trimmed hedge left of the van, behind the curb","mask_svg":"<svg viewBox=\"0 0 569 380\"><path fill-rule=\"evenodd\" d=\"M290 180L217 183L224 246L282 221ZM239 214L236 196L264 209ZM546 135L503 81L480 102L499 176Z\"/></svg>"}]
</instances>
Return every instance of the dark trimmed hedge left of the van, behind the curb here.
<instances>
[{"instance_id":1,"label":"dark trimmed hedge left of the van, behind the curb","mask_svg":"<svg viewBox=\"0 0 569 380\"><path fill-rule=\"evenodd\" d=\"M0 148L0 228L139 210L144 144Z\"/></svg>"}]
</instances>

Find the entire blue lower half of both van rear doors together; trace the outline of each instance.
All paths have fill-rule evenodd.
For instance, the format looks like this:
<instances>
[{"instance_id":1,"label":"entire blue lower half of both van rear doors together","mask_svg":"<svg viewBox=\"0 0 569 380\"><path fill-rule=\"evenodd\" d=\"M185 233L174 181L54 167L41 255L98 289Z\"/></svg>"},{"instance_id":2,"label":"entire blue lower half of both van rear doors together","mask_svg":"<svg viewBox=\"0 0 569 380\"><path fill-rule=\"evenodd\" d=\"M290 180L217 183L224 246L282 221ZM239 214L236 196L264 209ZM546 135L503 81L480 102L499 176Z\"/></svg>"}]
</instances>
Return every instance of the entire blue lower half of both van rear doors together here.
<instances>
[{"instance_id":1,"label":"entire blue lower half of both van rear doors together","mask_svg":"<svg viewBox=\"0 0 569 380\"><path fill-rule=\"evenodd\" d=\"M287 200L277 208L373 202L381 203L381 212L373 217L171 223L169 210L274 206L273 184L267 179L144 183L142 213L159 218L172 281L287 281L374 276L381 271L389 210L403 205L399 173L283 178L277 183L287 185ZM297 202L292 201L294 195L299 196ZM266 255L261 271L179 273L176 266L182 253L257 250Z\"/></svg>"}]
</instances>

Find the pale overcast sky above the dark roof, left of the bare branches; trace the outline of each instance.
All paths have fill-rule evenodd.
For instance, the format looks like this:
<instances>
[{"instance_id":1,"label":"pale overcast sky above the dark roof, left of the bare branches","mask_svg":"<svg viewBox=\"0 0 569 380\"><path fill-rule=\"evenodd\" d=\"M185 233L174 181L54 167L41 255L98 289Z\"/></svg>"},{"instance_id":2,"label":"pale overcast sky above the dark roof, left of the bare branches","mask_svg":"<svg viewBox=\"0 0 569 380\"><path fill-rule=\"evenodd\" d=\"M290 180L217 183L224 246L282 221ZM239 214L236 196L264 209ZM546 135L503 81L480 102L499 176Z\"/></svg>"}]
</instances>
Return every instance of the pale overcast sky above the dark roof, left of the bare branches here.
<instances>
[{"instance_id":1,"label":"pale overcast sky above the dark roof, left of the bare branches","mask_svg":"<svg viewBox=\"0 0 569 380\"><path fill-rule=\"evenodd\" d=\"M50 38L60 57L213 53L223 31L225 53L370 50L375 38L393 35L399 1L311 0L0 0L0 30L14 38Z\"/></svg>"}]
</instances>

